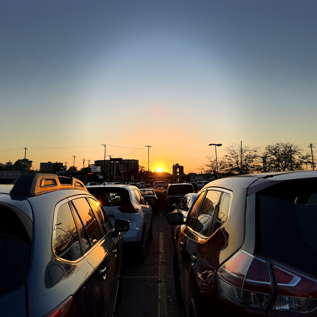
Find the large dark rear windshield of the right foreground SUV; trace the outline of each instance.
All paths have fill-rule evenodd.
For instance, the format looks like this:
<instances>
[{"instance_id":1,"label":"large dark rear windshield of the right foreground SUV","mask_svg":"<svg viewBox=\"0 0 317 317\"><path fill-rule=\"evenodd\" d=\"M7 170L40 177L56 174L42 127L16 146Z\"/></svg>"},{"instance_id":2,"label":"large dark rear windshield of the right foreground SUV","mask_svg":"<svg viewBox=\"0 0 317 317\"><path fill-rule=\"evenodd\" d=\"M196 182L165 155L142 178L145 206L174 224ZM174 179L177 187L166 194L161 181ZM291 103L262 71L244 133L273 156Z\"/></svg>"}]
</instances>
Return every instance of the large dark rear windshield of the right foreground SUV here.
<instances>
[{"instance_id":1,"label":"large dark rear windshield of the right foreground SUV","mask_svg":"<svg viewBox=\"0 0 317 317\"><path fill-rule=\"evenodd\" d=\"M317 182L294 180L257 194L260 252L317 275Z\"/></svg>"}]
</instances>

